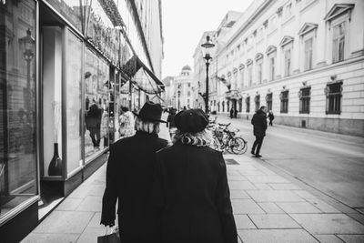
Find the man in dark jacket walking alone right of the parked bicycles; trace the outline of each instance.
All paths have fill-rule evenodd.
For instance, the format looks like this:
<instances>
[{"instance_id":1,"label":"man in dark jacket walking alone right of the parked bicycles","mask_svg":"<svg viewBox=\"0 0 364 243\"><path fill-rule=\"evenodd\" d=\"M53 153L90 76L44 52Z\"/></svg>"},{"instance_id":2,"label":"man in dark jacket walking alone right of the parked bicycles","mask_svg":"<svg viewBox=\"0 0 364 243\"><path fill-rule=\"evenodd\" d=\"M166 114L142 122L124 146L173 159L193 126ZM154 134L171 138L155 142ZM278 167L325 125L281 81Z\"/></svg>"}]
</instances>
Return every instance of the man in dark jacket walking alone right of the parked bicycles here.
<instances>
[{"instance_id":1,"label":"man in dark jacket walking alone right of the parked bicycles","mask_svg":"<svg viewBox=\"0 0 364 243\"><path fill-rule=\"evenodd\" d=\"M255 157L261 157L259 154L260 147L262 146L263 138L266 136L267 130L266 106L261 106L260 109L258 109L256 114L254 114L253 118L251 119L251 124L254 126L254 136L256 137L253 147L251 148L251 154L255 155Z\"/></svg>"}]
</instances>

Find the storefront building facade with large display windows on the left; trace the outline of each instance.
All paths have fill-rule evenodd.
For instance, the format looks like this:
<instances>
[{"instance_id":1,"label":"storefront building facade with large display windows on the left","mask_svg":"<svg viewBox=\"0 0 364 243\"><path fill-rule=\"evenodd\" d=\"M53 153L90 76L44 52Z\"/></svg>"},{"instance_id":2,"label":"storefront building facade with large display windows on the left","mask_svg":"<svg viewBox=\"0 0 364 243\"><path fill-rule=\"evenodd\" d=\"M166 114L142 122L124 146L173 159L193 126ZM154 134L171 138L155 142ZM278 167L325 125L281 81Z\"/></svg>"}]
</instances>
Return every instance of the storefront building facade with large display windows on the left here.
<instances>
[{"instance_id":1,"label":"storefront building facade with large display windows on the left","mask_svg":"<svg viewBox=\"0 0 364 243\"><path fill-rule=\"evenodd\" d=\"M24 238L106 161L127 82L140 96L162 88L161 3L147 1L144 10L136 3L0 2L0 238L6 242Z\"/></svg>"}]
</instances>

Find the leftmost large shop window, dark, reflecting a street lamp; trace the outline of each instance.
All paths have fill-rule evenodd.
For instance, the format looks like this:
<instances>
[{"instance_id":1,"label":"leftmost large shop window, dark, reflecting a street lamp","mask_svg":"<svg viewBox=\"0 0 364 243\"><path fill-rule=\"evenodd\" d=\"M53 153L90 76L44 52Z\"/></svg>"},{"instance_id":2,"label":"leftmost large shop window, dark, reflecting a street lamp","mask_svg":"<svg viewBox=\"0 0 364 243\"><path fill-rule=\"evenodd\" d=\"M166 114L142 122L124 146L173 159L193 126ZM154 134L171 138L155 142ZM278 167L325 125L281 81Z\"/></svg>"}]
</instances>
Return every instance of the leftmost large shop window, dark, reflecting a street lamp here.
<instances>
[{"instance_id":1,"label":"leftmost large shop window, dark, reflecting a street lamp","mask_svg":"<svg viewBox=\"0 0 364 243\"><path fill-rule=\"evenodd\" d=\"M0 218L4 218L37 193L35 1L0 5Z\"/></svg>"}]
</instances>

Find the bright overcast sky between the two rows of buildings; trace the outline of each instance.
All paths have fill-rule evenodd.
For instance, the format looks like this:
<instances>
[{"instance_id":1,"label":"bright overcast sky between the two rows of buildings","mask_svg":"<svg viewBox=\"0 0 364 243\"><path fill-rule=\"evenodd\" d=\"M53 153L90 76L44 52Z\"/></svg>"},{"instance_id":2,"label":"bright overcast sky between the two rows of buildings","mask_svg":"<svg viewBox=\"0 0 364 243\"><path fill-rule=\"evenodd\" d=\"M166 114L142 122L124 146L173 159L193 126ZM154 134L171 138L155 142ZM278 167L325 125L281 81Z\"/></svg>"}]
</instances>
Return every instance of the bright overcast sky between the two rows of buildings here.
<instances>
[{"instance_id":1,"label":"bright overcast sky between the two rows of buildings","mask_svg":"<svg viewBox=\"0 0 364 243\"><path fill-rule=\"evenodd\" d=\"M199 38L216 30L227 11L244 12L252 0L165 0L162 1L165 57L162 78L177 76L181 68L193 68L192 55Z\"/></svg>"}]
</instances>

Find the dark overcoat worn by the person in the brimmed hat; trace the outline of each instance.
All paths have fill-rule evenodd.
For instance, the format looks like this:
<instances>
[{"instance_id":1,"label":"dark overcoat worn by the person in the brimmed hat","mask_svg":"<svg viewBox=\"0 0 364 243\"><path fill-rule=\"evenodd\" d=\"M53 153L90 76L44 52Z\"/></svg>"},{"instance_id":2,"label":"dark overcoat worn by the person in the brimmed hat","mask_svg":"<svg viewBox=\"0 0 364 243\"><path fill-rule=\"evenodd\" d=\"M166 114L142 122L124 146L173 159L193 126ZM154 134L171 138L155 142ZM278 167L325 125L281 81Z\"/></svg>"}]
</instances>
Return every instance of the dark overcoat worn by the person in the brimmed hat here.
<instances>
[{"instance_id":1,"label":"dark overcoat worn by the person in the brimmed hat","mask_svg":"<svg viewBox=\"0 0 364 243\"><path fill-rule=\"evenodd\" d=\"M167 140L140 131L110 147L101 223L114 222L117 198L123 243L160 242L160 213L150 204L150 190L156 152L163 147Z\"/></svg>"}]
</instances>

